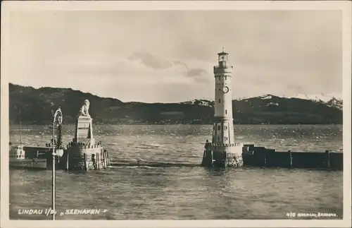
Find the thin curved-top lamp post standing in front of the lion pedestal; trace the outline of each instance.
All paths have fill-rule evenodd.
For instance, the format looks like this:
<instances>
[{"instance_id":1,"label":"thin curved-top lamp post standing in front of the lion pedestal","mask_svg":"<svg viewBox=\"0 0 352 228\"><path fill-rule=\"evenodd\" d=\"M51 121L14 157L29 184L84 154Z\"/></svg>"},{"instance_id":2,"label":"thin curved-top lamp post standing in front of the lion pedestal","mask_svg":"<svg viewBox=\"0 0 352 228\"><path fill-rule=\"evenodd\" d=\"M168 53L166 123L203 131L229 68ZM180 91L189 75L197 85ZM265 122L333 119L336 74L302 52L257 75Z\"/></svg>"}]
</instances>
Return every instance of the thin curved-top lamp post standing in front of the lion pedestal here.
<instances>
[{"instance_id":1,"label":"thin curved-top lamp post standing in front of the lion pedestal","mask_svg":"<svg viewBox=\"0 0 352 228\"><path fill-rule=\"evenodd\" d=\"M56 200L56 192L55 192L55 179L56 179L56 176L55 176L55 172L56 172L56 169L55 169L55 164L56 164L56 156L59 156L61 157L63 155L63 150L61 148L58 148L59 145L56 145L56 142L55 142L55 128L56 126L59 126L61 125L63 122L63 113L61 112L61 108L58 108L54 114L54 121L53 121L53 170L52 170L52 176L51 176L51 181L52 181L52 189L51 189L51 204L52 204L52 208L53 208L53 213L52 213L52 216L53 216L53 220L55 220L55 200Z\"/></svg>"}]
</instances>

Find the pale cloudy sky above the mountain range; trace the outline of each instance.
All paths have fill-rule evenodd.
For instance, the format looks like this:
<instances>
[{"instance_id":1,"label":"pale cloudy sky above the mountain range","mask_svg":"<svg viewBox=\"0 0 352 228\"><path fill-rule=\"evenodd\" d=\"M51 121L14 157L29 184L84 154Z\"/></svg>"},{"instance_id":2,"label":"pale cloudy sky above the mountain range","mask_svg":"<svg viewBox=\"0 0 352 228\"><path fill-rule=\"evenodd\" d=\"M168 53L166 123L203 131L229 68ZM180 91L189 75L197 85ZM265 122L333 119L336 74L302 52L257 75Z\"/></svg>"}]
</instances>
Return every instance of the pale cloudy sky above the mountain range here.
<instances>
[{"instance_id":1,"label":"pale cloudy sky above the mountain range","mask_svg":"<svg viewBox=\"0 0 352 228\"><path fill-rule=\"evenodd\" d=\"M234 99L341 97L341 39L341 11L15 11L8 80L123 102L213 100L225 47Z\"/></svg>"}]
</instances>

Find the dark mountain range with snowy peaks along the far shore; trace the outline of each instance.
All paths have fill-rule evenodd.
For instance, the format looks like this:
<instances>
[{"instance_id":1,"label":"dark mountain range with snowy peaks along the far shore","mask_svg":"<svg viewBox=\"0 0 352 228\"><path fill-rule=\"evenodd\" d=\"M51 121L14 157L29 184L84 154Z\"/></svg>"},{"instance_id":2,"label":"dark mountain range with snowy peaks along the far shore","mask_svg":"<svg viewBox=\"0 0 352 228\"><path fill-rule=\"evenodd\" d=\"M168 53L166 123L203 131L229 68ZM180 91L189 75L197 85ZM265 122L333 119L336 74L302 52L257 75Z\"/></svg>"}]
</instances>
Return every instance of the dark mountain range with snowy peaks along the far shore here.
<instances>
[{"instance_id":1,"label":"dark mountain range with snowy peaks along the far shore","mask_svg":"<svg viewBox=\"0 0 352 228\"><path fill-rule=\"evenodd\" d=\"M180 103L122 102L70 88L39 88L9 85L11 123L51 123L51 110L61 107L66 124L75 122L84 100L91 103L94 123L104 124L210 124L214 101ZM263 95L233 100L234 124L342 124L342 101L332 98L301 98Z\"/></svg>"}]
</instances>

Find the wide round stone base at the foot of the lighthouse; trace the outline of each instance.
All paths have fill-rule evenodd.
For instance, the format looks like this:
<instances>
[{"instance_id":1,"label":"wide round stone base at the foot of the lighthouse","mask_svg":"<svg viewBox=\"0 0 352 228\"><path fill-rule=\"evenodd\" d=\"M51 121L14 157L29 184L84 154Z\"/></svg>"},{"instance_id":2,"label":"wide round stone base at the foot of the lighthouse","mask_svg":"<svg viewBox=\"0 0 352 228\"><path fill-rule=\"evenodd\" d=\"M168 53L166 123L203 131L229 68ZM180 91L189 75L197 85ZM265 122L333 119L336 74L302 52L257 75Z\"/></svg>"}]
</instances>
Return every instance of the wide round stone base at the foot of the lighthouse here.
<instances>
[{"instance_id":1,"label":"wide round stone base at the foot of the lighthouse","mask_svg":"<svg viewBox=\"0 0 352 228\"><path fill-rule=\"evenodd\" d=\"M244 143L207 143L201 166L203 167L242 167Z\"/></svg>"}]
</instances>

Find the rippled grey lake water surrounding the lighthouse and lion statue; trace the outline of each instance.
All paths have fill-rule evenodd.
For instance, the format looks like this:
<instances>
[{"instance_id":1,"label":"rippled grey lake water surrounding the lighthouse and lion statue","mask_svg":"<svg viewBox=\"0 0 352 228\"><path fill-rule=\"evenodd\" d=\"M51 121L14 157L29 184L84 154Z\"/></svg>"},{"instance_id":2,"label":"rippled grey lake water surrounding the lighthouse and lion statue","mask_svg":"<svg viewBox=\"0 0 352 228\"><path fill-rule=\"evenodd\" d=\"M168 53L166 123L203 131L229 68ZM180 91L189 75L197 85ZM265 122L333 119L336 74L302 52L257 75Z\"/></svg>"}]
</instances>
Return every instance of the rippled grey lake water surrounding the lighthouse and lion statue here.
<instances>
[{"instance_id":1,"label":"rippled grey lake water surrounding the lighthouse and lion statue","mask_svg":"<svg viewBox=\"0 0 352 228\"><path fill-rule=\"evenodd\" d=\"M291 151L342 151L342 126L234 126L237 140ZM74 126L63 126L68 143ZM26 145L44 145L48 126L23 126ZM101 209L97 215L56 220L292 219L287 212L327 212L342 218L342 172L310 169L199 167L212 126L95 125L111 163L162 162L177 167L111 167L99 172L56 172L56 210ZM18 126L11 142L19 143ZM51 171L10 171L11 219L51 220L18 210L51 207ZM106 210L106 211L103 211ZM297 218L297 217L296 217ZM322 217L332 219L332 217ZM302 219L302 217L301 217ZM317 218L315 218L317 219Z\"/></svg>"}]
</instances>

